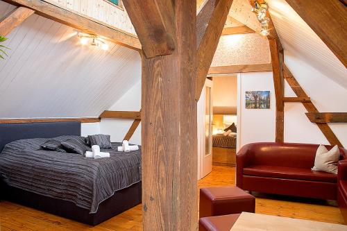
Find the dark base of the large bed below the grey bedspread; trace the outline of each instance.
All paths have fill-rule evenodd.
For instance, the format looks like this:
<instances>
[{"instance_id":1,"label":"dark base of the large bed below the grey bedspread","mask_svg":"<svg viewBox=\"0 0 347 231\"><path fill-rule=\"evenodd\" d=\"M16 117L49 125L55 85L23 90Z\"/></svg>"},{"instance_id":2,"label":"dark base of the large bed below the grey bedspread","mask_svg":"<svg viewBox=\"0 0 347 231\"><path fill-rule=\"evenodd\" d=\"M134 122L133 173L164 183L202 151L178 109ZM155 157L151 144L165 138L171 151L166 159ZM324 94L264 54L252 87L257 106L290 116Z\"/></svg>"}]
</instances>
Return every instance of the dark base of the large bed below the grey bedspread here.
<instances>
[{"instance_id":1,"label":"dark base of the large bed below the grey bedspread","mask_svg":"<svg viewBox=\"0 0 347 231\"><path fill-rule=\"evenodd\" d=\"M3 200L9 200L20 205L32 207L88 225L98 225L135 205L139 205L142 201L141 182L137 182L126 189L116 191L113 196L104 200L99 205L99 209L95 214L90 214L88 209L78 207L70 201L42 196L31 191L10 187L4 182L1 182L0 191L0 196Z\"/></svg>"}]
</instances>

